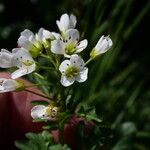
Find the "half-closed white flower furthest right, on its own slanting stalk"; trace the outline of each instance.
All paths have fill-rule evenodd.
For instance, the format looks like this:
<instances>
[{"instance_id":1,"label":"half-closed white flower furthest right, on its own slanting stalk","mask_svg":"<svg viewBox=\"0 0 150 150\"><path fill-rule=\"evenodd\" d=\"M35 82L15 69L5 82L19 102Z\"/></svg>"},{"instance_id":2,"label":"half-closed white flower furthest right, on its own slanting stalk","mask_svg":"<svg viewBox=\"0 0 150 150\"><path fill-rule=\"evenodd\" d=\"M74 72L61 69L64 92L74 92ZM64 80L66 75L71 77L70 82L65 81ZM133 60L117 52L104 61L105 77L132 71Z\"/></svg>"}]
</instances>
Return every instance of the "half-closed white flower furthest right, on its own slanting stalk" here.
<instances>
[{"instance_id":1,"label":"half-closed white flower furthest right, on its own slanting stalk","mask_svg":"<svg viewBox=\"0 0 150 150\"><path fill-rule=\"evenodd\" d=\"M107 52L113 45L109 36L102 36L91 52L91 57L94 58L100 54Z\"/></svg>"}]
</instances>

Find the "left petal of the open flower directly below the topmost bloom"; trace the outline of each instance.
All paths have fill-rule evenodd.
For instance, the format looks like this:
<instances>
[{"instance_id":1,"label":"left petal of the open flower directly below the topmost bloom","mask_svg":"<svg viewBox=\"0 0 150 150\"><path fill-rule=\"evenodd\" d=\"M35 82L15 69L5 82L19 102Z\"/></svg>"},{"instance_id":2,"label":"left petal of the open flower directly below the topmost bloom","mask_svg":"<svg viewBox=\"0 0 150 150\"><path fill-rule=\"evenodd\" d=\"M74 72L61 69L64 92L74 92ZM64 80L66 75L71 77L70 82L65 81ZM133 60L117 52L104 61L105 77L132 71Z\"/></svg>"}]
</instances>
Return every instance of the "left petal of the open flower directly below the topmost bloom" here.
<instances>
[{"instance_id":1,"label":"left petal of the open flower directly below the topmost bloom","mask_svg":"<svg viewBox=\"0 0 150 150\"><path fill-rule=\"evenodd\" d=\"M51 51L55 54L64 54L64 43L61 40L52 41Z\"/></svg>"}]
</instances>

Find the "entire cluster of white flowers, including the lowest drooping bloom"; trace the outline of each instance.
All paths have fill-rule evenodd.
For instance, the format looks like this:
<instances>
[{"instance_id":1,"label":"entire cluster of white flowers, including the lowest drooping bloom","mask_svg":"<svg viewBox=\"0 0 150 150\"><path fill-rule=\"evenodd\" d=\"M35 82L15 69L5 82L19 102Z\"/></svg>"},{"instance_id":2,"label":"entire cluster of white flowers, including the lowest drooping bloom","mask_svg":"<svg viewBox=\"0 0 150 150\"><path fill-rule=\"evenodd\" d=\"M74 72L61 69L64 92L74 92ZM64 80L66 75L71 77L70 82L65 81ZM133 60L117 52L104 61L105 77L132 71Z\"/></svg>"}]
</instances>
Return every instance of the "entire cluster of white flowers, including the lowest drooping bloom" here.
<instances>
[{"instance_id":1,"label":"entire cluster of white flowers, including the lowest drooping bloom","mask_svg":"<svg viewBox=\"0 0 150 150\"><path fill-rule=\"evenodd\" d=\"M38 69L42 68L37 59L39 57L49 59L58 74L58 81L64 87L72 85L75 81L85 82L88 77L87 64L108 51L112 40L103 35L92 49L89 60L84 62L80 53L87 47L88 41L81 40L80 33L75 28L76 23L74 15L63 14L60 20L56 21L60 33L40 28L38 33L34 34L25 29L18 39L18 48L12 49L12 52L1 49L0 67L14 68L14 71L11 72L11 79L0 78L0 93L25 89L26 86L16 79L38 73ZM38 105L33 107L31 116L34 119L55 120L58 110L57 105Z\"/></svg>"}]
</instances>

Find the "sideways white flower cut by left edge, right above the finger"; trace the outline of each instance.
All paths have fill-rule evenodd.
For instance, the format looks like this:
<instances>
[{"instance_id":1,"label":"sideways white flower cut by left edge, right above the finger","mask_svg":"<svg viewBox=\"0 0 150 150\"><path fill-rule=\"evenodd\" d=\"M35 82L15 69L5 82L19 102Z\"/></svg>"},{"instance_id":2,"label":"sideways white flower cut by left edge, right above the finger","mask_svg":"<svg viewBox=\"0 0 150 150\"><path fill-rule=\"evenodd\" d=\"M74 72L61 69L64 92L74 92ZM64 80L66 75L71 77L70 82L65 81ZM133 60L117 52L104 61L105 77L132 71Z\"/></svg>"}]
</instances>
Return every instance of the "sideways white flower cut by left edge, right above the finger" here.
<instances>
[{"instance_id":1,"label":"sideways white flower cut by left edge, right above the finger","mask_svg":"<svg viewBox=\"0 0 150 150\"><path fill-rule=\"evenodd\" d=\"M23 84L19 81L0 78L0 93L15 91L21 87Z\"/></svg>"}]
</instances>

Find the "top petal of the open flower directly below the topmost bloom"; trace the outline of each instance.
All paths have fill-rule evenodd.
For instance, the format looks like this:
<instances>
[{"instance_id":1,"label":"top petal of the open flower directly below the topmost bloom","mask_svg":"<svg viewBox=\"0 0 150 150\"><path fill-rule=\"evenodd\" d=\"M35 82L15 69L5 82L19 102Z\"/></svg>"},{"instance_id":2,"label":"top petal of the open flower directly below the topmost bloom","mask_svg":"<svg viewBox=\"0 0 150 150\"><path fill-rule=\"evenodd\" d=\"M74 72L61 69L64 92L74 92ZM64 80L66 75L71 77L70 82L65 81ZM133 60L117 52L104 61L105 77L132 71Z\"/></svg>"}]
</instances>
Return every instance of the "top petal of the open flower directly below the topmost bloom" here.
<instances>
[{"instance_id":1,"label":"top petal of the open flower directly below the topmost bloom","mask_svg":"<svg viewBox=\"0 0 150 150\"><path fill-rule=\"evenodd\" d=\"M77 43L79 41L79 31L76 29L69 29L66 31L65 39Z\"/></svg>"}]
</instances>

